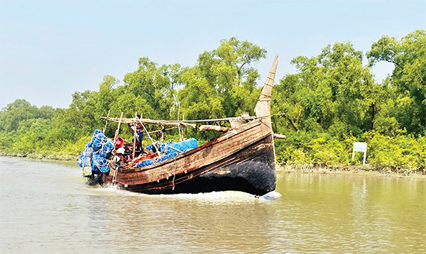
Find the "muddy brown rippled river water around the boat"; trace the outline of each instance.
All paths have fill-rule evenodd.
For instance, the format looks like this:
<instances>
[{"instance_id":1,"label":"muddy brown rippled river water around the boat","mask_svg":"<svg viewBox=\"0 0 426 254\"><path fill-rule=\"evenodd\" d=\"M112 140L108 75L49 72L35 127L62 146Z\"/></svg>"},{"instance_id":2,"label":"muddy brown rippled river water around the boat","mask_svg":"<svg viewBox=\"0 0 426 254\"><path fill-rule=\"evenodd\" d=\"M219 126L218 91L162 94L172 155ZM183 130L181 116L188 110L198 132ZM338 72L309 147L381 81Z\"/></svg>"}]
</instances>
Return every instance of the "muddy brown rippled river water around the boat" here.
<instances>
[{"instance_id":1,"label":"muddy brown rippled river water around the boat","mask_svg":"<svg viewBox=\"0 0 426 254\"><path fill-rule=\"evenodd\" d=\"M1 253L426 253L426 180L279 174L276 192L89 186L74 162L0 157Z\"/></svg>"}]
</instances>

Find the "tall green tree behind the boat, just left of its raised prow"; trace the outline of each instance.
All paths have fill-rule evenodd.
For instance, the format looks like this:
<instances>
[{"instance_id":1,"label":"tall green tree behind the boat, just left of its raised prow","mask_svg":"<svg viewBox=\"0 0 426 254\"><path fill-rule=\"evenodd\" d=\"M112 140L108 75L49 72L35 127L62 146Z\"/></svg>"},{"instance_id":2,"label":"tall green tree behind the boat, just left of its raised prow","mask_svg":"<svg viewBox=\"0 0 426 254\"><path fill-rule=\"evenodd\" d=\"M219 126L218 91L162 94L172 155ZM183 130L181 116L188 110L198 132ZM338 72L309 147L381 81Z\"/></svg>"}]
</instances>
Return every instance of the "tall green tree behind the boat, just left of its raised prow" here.
<instances>
[{"instance_id":1,"label":"tall green tree behind the boat, just left of its raised prow","mask_svg":"<svg viewBox=\"0 0 426 254\"><path fill-rule=\"evenodd\" d=\"M221 40L205 51L195 67L185 68L180 80L185 87L178 98L187 118L218 118L253 112L258 97L258 71L253 64L266 50L235 37Z\"/></svg>"}]
</instances>

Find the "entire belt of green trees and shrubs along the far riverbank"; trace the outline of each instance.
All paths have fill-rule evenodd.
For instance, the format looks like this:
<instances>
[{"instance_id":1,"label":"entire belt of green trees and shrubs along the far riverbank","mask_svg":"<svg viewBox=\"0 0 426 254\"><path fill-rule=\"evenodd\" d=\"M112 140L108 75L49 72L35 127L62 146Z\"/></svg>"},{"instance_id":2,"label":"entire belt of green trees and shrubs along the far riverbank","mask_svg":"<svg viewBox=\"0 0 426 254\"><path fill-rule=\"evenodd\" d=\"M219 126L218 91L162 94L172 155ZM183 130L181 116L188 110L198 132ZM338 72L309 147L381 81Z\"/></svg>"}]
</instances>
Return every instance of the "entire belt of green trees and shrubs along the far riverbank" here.
<instances>
[{"instance_id":1,"label":"entire belt of green trees and shrubs along the far riverbank","mask_svg":"<svg viewBox=\"0 0 426 254\"><path fill-rule=\"evenodd\" d=\"M426 31L391 38L383 35L362 53L350 42L327 45L317 56L291 60L295 74L275 84L271 98L278 171L378 172L382 175L426 175ZM368 64L363 64L366 57ZM123 81L104 76L97 91L75 92L67 109L31 105L16 99L0 111L0 155L45 160L77 160L101 116L161 120L253 116L260 93L256 63L266 49L237 38L221 40L204 51L192 67L158 65L148 57ZM393 64L390 76L377 82L378 62ZM220 122L229 127L227 121ZM105 134L114 137L117 124ZM160 139L158 126L148 126ZM158 134L158 136L157 136ZM198 128L165 131L165 140L180 136L200 144L220 133ZM131 140L131 128L120 136ZM351 160L354 142L367 143ZM150 145L143 141L142 145Z\"/></svg>"}]
</instances>

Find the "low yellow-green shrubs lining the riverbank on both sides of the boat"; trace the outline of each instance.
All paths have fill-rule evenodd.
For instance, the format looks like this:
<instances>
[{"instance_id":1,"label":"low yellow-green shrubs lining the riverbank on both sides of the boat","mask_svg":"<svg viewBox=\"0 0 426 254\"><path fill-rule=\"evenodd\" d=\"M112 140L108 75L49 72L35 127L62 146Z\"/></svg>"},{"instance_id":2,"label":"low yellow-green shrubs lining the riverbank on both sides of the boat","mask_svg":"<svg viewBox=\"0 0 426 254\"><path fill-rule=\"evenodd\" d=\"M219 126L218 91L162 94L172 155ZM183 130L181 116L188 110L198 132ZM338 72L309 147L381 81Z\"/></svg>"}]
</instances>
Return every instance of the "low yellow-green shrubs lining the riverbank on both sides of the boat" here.
<instances>
[{"instance_id":1,"label":"low yellow-green shrubs lining the riverbank on both sides of the boat","mask_svg":"<svg viewBox=\"0 0 426 254\"><path fill-rule=\"evenodd\" d=\"M34 131L0 132L0 155L49 160L77 160L89 136L60 138L51 133ZM368 167L362 166L362 153L351 160L354 142L366 142ZM299 171L323 168L417 172L426 174L426 138L411 135L383 136L364 133L361 138L332 133L288 133L285 140L275 140L275 153L280 168Z\"/></svg>"}]
</instances>

